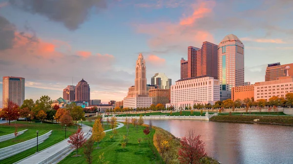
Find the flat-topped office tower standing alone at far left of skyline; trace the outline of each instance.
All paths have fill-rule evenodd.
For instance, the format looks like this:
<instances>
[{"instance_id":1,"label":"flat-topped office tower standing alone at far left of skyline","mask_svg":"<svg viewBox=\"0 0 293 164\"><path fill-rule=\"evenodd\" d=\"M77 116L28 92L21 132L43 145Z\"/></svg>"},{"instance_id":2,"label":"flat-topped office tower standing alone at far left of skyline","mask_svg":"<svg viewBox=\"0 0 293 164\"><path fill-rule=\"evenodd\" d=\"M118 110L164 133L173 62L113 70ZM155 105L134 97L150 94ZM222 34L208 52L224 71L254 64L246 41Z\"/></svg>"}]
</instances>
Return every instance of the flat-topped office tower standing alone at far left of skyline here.
<instances>
[{"instance_id":1,"label":"flat-topped office tower standing alone at far left of skyline","mask_svg":"<svg viewBox=\"0 0 293 164\"><path fill-rule=\"evenodd\" d=\"M18 106L24 100L24 78L5 76L2 81L2 108L7 107L7 100L11 100Z\"/></svg>"}]
</instances>

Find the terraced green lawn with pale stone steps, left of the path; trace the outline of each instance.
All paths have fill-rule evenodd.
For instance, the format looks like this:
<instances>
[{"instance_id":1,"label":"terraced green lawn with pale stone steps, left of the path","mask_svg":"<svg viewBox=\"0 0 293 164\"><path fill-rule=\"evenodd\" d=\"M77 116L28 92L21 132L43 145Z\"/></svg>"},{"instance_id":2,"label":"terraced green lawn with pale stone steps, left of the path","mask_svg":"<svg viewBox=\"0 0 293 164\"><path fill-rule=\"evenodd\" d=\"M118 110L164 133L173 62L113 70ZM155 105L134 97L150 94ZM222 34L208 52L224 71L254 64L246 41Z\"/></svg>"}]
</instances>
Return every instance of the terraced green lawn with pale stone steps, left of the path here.
<instances>
[{"instance_id":1,"label":"terraced green lawn with pale stone steps, left of the path","mask_svg":"<svg viewBox=\"0 0 293 164\"><path fill-rule=\"evenodd\" d=\"M41 131L42 131L42 133L45 133L49 130L53 130L50 137L48 139L46 139L42 144L39 144L39 146L38 146L39 151L41 151L49 146L52 146L56 143L59 143L60 141L64 140L64 138L65 138L65 129L61 128L61 126L58 124L32 123L31 125L29 125L29 123L25 122L25 121L18 121L17 123L18 123L17 125L21 126L22 128L28 129L25 133L23 133L19 136L20 138L21 138L21 136L24 137L26 134L30 135L30 136L32 136L32 138L34 138L37 136L36 130L39 130L39 135L40 135ZM0 125L1 130L9 129L9 128L14 129L14 125L13 126L12 125L11 126ZM66 129L67 137L75 131L76 131L75 126L67 127L67 129ZM0 146L3 147L2 145L6 144L6 143L13 143L13 142L14 142L14 139L7 140L5 142L1 142ZM13 163L25 158L25 157L28 157L28 156L34 154L36 151L37 151L37 146L32 147L32 148L25 150L19 154L16 154L14 156L11 156L9 158L1 160L0 164L13 164Z\"/></svg>"}]
</instances>

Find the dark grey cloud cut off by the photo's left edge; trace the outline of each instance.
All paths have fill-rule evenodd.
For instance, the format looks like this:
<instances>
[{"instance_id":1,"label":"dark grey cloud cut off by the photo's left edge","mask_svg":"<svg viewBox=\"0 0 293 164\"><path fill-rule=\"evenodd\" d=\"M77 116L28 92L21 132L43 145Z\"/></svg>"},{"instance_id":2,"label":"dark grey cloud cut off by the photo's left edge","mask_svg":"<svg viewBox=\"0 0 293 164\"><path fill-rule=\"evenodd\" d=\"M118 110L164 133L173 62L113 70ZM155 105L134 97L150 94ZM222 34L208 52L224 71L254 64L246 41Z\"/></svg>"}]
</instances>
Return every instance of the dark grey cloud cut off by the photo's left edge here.
<instances>
[{"instance_id":1,"label":"dark grey cloud cut off by the photo's left edge","mask_svg":"<svg viewBox=\"0 0 293 164\"><path fill-rule=\"evenodd\" d=\"M15 37L15 26L6 18L0 16L0 50L13 47Z\"/></svg>"}]
</instances>

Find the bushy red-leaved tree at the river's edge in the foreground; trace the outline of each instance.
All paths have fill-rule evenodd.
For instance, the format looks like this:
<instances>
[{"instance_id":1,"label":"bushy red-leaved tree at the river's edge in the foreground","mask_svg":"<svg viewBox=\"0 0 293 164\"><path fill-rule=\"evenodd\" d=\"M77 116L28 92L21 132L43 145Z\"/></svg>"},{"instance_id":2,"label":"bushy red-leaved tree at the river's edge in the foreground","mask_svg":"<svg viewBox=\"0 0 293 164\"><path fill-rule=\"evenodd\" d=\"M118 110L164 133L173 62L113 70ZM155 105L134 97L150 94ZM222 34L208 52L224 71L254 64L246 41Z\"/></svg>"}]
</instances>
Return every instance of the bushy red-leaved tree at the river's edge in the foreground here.
<instances>
[{"instance_id":1,"label":"bushy red-leaved tree at the river's edge in the foreground","mask_svg":"<svg viewBox=\"0 0 293 164\"><path fill-rule=\"evenodd\" d=\"M200 135L196 136L193 130L188 130L180 144L178 159L181 164L200 164L200 159L207 156L205 144L200 140Z\"/></svg>"}]
</instances>

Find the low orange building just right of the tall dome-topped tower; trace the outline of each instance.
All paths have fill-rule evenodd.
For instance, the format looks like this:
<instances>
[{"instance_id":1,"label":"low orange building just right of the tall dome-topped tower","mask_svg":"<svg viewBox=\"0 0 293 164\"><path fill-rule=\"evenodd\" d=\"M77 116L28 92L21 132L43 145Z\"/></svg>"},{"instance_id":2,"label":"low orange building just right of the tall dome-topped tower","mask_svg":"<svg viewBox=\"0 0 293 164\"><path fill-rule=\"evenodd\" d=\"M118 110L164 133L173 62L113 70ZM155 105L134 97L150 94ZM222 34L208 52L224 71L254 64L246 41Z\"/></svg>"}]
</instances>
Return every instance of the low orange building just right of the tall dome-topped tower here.
<instances>
[{"instance_id":1,"label":"low orange building just right of the tall dome-topped tower","mask_svg":"<svg viewBox=\"0 0 293 164\"><path fill-rule=\"evenodd\" d=\"M255 83L252 85L238 86L232 87L231 90L231 99L233 101L240 99L244 100L245 98L254 97L254 86L257 86L259 83Z\"/></svg>"}]
</instances>

